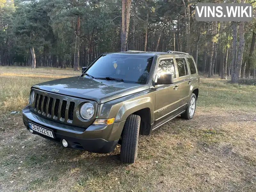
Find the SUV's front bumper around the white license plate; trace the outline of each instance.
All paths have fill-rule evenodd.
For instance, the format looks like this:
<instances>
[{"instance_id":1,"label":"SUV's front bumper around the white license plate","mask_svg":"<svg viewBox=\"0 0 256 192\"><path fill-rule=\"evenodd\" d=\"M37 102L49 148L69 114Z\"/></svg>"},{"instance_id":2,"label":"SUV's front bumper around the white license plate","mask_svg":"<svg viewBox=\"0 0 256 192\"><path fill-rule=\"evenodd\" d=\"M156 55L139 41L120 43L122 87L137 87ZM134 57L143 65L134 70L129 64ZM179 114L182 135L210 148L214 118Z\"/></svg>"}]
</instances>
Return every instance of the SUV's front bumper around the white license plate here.
<instances>
[{"instance_id":1,"label":"SUV's front bumper around the white license plate","mask_svg":"<svg viewBox=\"0 0 256 192\"><path fill-rule=\"evenodd\" d=\"M33 132L46 139L61 143L62 139L68 142L69 148L82 149L94 153L109 153L116 148L121 136L124 123L116 122L110 125L90 125L88 128L81 128L67 124L61 124L31 112L26 106L22 110L23 122L29 130L28 122L51 129L55 138L44 136Z\"/></svg>"}]
</instances>

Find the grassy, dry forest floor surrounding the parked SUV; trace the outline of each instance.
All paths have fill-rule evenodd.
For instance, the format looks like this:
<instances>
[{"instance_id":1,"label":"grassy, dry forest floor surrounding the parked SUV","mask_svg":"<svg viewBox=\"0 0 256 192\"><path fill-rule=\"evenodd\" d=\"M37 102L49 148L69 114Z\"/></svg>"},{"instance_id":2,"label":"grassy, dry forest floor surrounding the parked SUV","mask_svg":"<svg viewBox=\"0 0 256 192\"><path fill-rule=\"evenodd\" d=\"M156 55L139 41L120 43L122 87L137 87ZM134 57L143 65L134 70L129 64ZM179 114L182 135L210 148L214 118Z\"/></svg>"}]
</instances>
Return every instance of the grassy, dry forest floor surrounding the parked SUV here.
<instances>
[{"instance_id":1,"label":"grassy, dry forest floor surrounding the parked SUV","mask_svg":"<svg viewBox=\"0 0 256 192\"><path fill-rule=\"evenodd\" d=\"M256 191L256 86L201 77L196 114L140 136L135 164L29 133L31 85L72 69L0 67L0 191Z\"/></svg>"}]
</instances>

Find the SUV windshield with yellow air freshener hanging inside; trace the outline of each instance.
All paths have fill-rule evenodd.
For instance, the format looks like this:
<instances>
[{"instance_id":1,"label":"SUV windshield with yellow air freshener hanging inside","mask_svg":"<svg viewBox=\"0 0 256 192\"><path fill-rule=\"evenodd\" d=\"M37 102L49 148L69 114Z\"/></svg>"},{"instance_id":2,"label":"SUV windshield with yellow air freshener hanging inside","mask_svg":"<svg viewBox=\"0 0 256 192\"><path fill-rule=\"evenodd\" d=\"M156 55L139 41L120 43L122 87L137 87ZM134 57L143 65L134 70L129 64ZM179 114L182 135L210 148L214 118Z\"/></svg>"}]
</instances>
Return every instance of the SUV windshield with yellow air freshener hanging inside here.
<instances>
[{"instance_id":1,"label":"SUV windshield with yellow air freshener hanging inside","mask_svg":"<svg viewBox=\"0 0 256 192\"><path fill-rule=\"evenodd\" d=\"M152 60L147 56L103 55L85 73L96 79L111 77L124 83L146 84Z\"/></svg>"}]
</instances>

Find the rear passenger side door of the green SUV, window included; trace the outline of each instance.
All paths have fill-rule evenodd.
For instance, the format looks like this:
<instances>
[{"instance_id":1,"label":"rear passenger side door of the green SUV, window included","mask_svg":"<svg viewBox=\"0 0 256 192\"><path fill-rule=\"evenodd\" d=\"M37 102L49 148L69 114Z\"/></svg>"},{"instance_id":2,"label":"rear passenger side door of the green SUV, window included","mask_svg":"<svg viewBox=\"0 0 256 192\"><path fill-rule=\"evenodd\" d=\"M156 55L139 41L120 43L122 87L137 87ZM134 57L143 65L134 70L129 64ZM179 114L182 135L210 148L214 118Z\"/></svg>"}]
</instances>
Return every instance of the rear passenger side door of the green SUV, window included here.
<instances>
[{"instance_id":1,"label":"rear passenger side door of the green SUV, window included","mask_svg":"<svg viewBox=\"0 0 256 192\"><path fill-rule=\"evenodd\" d=\"M187 107L189 100L189 89L192 82L190 81L189 68L185 57L176 57L175 61L178 69L178 82L180 84L180 94L177 100L179 100L179 111L182 111Z\"/></svg>"}]
</instances>

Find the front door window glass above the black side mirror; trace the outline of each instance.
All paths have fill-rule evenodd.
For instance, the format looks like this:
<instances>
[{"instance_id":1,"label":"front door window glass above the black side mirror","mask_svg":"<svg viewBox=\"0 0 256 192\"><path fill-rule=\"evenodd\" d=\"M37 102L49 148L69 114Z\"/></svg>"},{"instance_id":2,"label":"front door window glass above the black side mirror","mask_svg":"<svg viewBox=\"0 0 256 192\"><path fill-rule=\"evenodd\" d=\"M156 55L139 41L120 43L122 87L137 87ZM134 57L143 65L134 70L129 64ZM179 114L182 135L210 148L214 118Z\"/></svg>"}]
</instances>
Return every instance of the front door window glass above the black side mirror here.
<instances>
[{"instance_id":1,"label":"front door window glass above the black side mirror","mask_svg":"<svg viewBox=\"0 0 256 192\"><path fill-rule=\"evenodd\" d=\"M163 59L159 62L156 73L157 77L161 77L161 74L163 73L173 74L174 78L176 78L173 59Z\"/></svg>"}]
</instances>

